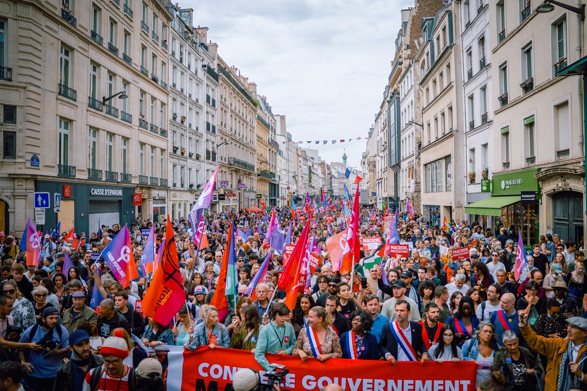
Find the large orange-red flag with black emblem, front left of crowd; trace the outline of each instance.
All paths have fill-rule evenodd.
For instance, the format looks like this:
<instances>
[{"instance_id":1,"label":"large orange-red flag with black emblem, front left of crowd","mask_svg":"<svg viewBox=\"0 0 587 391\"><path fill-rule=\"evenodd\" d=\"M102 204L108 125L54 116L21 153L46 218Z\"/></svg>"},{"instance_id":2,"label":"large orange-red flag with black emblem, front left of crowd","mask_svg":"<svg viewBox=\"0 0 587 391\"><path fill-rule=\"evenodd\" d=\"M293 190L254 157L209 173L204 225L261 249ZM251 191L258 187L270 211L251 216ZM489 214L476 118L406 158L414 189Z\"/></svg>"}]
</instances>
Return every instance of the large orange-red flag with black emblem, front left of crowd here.
<instances>
[{"instance_id":1,"label":"large orange-red flag with black emblem, front left of crowd","mask_svg":"<svg viewBox=\"0 0 587 391\"><path fill-rule=\"evenodd\" d=\"M149 290L143 298L143 314L168 325L177 311L185 304L185 291L181 283L180 263L177 259L176 241L167 215L165 249L161 263L153 274Z\"/></svg>"}]
</instances>

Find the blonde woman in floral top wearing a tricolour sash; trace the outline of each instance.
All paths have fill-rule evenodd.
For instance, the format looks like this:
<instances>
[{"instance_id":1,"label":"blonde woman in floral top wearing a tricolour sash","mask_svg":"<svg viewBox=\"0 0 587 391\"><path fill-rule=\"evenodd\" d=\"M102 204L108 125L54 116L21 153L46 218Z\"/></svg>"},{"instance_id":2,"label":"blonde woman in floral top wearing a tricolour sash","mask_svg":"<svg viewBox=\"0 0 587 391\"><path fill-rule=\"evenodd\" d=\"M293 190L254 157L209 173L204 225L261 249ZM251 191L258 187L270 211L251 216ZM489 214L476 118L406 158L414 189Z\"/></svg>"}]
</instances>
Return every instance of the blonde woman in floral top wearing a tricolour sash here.
<instances>
[{"instance_id":1,"label":"blonde woman in floral top wearing a tricolour sash","mask_svg":"<svg viewBox=\"0 0 587 391\"><path fill-rule=\"evenodd\" d=\"M292 354L302 361L306 361L308 357L317 358L319 361L342 358L340 340L330 325L330 311L319 305L312 307L308 313L308 327L300 330Z\"/></svg>"}]
</instances>

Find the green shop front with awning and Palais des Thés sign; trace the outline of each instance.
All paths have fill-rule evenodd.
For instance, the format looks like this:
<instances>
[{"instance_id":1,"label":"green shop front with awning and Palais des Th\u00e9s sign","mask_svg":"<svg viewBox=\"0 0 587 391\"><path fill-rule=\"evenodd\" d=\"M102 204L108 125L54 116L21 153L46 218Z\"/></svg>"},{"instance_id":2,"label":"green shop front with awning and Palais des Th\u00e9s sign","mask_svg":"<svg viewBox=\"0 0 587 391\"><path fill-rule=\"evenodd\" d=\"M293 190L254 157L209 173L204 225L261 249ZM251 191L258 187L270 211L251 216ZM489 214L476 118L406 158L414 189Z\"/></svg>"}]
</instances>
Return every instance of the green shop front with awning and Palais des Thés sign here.
<instances>
[{"instance_id":1,"label":"green shop front with awning and Palais des Th\u00e9s sign","mask_svg":"<svg viewBox=\"0 0 587 391\"><path fill-rule=\"evenodd\" d=\"M522 240L527 249L538 243L539 237L539 202L541 188L535 174L538 168L504 174L495 174L491 178L491 197L465 206L465 213L477 216L477 221L485 216L494 216L492 231L499 233L500 225L509 229L514 226L515 234L522 230ZM529 198L522 200L522 193ZM534 195L534 196L532 196ZM485 220L487 221L487 220Z\"/></svg>"}]
</instances>

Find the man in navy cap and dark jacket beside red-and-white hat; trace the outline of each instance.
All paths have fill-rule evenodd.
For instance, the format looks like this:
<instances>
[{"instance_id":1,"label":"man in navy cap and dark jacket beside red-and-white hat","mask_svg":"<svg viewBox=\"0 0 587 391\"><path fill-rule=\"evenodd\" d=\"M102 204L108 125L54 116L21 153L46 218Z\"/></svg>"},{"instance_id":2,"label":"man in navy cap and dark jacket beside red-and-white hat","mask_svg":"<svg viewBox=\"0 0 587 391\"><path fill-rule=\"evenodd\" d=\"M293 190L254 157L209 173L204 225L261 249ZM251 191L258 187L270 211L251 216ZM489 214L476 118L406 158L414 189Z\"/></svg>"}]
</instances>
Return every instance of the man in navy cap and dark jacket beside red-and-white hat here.
<instances>
[{"instance_id":1,"label":"man in navy cap and dark jacket beside red-and-white hat","mask_svg":"<svg viewBox=\"0 0 587 391\"><path fill-rule=\"evenodd\" d=\"M87 372L104 363L102 356L92 353L90 339L84 330L76 330L69 335L69 350L72 353L69 361L57 370L53 389L59 391L81 390Z\"/></svg>"}]
</instances>

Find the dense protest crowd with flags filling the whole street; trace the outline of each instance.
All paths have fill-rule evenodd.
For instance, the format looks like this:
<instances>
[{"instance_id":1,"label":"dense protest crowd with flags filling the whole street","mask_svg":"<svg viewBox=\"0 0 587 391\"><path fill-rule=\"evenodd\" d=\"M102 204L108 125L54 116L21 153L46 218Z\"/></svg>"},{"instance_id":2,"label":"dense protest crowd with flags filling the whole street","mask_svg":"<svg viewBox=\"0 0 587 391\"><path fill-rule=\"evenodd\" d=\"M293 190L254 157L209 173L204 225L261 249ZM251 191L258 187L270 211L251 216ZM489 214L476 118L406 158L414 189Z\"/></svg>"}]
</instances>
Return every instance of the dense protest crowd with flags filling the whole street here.
<instances>
[{"instance_id":1,"label":"dense protest crowd with flags filling the whole street","mask_svg":"<svg viewBox=\"0 0 587 391\"><path fill-rule=\"evenodd\" d=\"M578 244L525 250L513 226L431 226L349 194L222 213L202 197L185 219L4 237L0 391L165 390L165 346L266 370L268 353L412 361L422 378L473 361L470 389L587 390Z\"/></svg>"}]
</instances>

